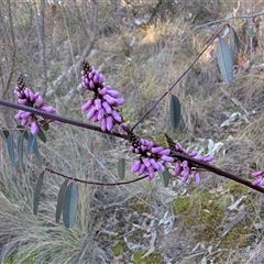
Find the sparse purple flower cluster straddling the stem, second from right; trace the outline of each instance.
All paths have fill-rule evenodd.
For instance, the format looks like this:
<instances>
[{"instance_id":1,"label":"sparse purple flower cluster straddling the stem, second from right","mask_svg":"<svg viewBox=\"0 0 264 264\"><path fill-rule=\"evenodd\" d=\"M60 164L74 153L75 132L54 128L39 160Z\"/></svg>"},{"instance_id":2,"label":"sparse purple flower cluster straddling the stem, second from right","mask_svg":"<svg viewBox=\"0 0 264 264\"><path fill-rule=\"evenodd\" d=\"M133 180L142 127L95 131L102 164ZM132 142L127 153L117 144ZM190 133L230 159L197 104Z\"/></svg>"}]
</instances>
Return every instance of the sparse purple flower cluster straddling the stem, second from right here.
<instances>
[{"instance_id":1,"label":"sparse purple flower cluster straddling the stem, second from right","mask_svg":"<svg viewBox=\"0 0 264 264\"><path fill-rule=\"evenodd\" d=\"M213 160L213 156L198 156L197 151L193 151L188 153L179 143L175 144L175 151L180 152L183 154L188 155L199 162L209 163ZM183 176L183 182L186 183L189 179L189 176L194 174L195 182L197 184L200 183L200 173L198 172L197 167L193 167L187 161L176 162L174 167L174 176Z\"/></svg>"}]
</instances>

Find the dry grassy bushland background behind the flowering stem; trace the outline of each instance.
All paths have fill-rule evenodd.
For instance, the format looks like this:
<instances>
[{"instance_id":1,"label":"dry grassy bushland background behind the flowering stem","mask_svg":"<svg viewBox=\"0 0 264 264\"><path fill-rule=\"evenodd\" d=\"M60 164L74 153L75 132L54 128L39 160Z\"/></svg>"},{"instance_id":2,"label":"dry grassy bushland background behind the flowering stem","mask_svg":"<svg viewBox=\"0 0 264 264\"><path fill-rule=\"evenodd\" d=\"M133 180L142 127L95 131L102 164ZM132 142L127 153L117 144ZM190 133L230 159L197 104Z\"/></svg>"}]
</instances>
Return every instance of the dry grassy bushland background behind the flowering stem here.
<instances>
[{"instance_id":1,"label":"dry grassy bushland background behind the flowering stem","mask_svg":"<svg viewBox=\"0 0 264 264\"><path fill-rule=\"evenodd\" d=\"M22 73L58 114L86 122L80 112L89 96L80 87L84 58L122 92L123 117L133 123L228 21L242 45L235 81L222 82L212 45L174 89L183 106L179 131L172 133L165 99L136 133L164 143L167 132L186 147L215 154L215 165L241 177L263 168L263 15L244 15L262 12L264 1L0 4L1 98L14 100ZM1 107L1 125L15 128L13 116ZM122 140L66 124L51 127L47 142L40 144L42 162L28 155L24 170L11 167L0 142L1 263L263 263L262 195L212 174L202 174L199 186L175 179L164 188L158 177L121 187L79 185L72 230L55 223L63 179L50 175L34 216L33 189L44 167L111 183L118 180L119 158L131 158Z\"/></svg>"}]
</instances>

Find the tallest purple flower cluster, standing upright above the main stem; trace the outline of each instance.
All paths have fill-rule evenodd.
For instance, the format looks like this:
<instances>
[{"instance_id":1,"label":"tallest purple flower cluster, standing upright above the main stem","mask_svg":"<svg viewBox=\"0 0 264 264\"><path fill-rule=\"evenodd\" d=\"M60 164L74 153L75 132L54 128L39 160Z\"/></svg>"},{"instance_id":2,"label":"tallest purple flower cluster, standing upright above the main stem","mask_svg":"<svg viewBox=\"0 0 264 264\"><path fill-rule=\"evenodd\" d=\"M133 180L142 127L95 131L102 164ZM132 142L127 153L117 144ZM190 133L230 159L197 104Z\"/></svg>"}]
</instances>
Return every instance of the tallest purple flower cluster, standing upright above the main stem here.
<instances>
[{"instance_id":1,"label":"tallest purple flower cluster, standing upright above the main stem","mask_svg":"<svg viewBox=\"0 0 264 264\"><path fill-rule=\"evenodd\" d=\"M124 122L119 107L124 103L124 99L120 97L119 91L105 85L103 75L87 62L82 63L81 79L82 87L95 92L94 98L81 107L82 111L88 111L87 119L94 122L100 121L103 132L111 131L114 124L119 124L119 133L122 134Z\"/></svg>"}]
</instances>

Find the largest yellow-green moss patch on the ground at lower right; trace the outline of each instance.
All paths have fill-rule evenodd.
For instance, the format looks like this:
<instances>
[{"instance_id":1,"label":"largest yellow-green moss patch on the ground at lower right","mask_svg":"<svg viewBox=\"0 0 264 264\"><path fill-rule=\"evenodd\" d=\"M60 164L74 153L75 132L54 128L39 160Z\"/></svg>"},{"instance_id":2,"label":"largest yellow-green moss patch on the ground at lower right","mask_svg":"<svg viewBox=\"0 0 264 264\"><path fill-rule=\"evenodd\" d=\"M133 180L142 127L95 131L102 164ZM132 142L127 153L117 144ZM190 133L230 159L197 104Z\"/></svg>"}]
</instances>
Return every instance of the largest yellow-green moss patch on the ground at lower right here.
<instances>
[{"instance_id":1,"label":"largest yellow-green moss patch on the ground at lower right","mask_svg":"<svg viewBox=\"0 0 264 264\"><path fill-rule=\"evenodd\" d=\"M198 191L191 190L191 196L183 196L175 199L173 209L176 215L182 217L186 228L190 229L196 239L217 242L221 237L221 223L226 222L227 208L233 201L246 194L243 200L244 205L251 205L253 195L248 188L234 182L223 184L226 194L216 195L210 194L209 190ZM228 221L228 220L227 220ZM246 234L251 231L250 220L243 220L235 224L227 235L224 235L220 243L223 246L243 248L248 245Z\"/></svg>"}]
</instances>

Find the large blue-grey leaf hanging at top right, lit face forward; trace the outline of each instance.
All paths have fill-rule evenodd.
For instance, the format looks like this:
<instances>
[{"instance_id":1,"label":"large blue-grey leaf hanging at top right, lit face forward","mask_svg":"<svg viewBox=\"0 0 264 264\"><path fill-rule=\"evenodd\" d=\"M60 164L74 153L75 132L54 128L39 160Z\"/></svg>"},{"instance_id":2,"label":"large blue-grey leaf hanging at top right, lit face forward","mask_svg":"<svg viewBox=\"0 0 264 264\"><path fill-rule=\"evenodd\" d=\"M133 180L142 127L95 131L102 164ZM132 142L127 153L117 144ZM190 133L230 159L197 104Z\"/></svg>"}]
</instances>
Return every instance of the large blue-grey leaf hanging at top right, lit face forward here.
<instances>
[{"instance_id":1,"label":"large blue-grey leaf hanging at top right, lit face forward","mask_svg":"<svg viewBox=\"0 0 264 264\"><path fill-rule=\"evenodd\" d=\"M233 81L233 57L228 43L222 37L218 41L217 58L223 80L231 84Z\"/></svg>"}]
</instances>

